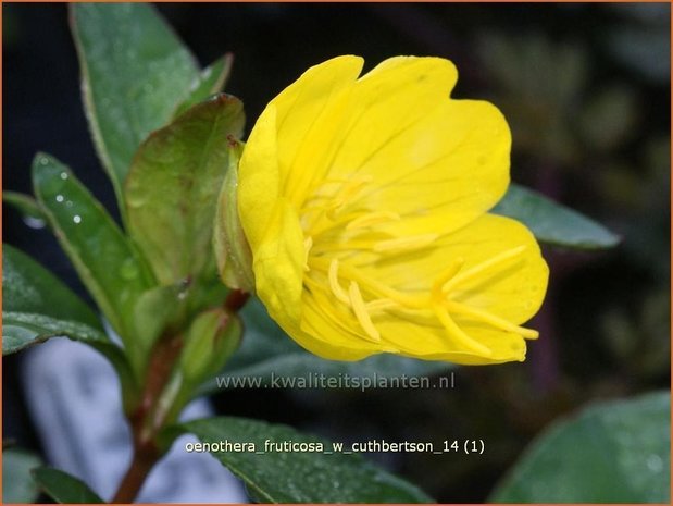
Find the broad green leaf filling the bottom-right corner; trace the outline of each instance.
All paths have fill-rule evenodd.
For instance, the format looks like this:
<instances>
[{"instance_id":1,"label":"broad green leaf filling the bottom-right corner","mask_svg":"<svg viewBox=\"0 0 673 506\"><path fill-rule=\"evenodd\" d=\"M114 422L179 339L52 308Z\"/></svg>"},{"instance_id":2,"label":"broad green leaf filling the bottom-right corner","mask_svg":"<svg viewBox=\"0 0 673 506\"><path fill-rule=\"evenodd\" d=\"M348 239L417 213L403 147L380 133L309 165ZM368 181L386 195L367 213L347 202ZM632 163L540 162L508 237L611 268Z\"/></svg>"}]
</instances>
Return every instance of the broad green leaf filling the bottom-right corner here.
<instances>
[{"instance_id":1,"label":"broad green leaf filling the bottom-right corner","mask_svg":"<svg viewBox=\"0 0 673 506\"><path fill-rule=\"evenodd\" d=\"M669 392L601 403L539 436L495 503L670 503Z\"/></svg>"}]
</instances>

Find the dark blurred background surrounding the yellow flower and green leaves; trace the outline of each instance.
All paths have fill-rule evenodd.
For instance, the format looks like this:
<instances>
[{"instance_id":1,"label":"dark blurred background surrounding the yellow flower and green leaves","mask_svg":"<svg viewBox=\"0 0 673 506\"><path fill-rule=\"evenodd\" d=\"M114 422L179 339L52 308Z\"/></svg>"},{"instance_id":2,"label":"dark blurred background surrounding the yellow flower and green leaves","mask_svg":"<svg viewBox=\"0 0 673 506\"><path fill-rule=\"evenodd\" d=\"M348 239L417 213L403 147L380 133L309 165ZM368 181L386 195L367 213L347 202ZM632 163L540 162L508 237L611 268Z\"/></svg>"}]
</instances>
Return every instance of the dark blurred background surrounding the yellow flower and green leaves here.
<instances>
[{"instance_id":1,"label":"dark blurred background surrounding the yellow flower and green leaves","mask_svg":"<svg viewBox=\"0 0 673 506\"><path fill-rule=\"evenodd\" d=\"M66 8L3 9L3 188L30 193L47 151L116 214L88 136ZM610 251L546 248L549 294L528 359L457 371L452 391L220 394L223 412L336 439L483 437L479 458L373 455L440 502L483 502L549 422L598 398L670 384L669 4L162 4L202 64L235 54L227 91L249 125L308 66L361 54L451 59L457 97L486 98L513 131L512 177L623 237ZM3 240L80 295L45 230L3 208ZM5 437L39 449L22 402L21 356L3 360Z\"/></svg>"}]
</instances>

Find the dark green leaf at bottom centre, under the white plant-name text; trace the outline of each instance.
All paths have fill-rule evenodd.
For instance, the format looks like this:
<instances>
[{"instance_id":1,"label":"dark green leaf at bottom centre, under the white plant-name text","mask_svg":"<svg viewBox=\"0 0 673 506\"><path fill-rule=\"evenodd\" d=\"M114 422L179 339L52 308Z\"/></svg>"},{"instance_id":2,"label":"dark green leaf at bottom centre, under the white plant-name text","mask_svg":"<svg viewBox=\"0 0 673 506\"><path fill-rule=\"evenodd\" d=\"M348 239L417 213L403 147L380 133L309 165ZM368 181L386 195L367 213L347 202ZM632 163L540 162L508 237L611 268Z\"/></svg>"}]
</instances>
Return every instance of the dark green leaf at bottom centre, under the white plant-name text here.
<instances>
[{"instance_id":1,"label":"dark green leaf at bottom centre, under the white plant-name text","mask_svg":"<svg viewBox=\"0 0 673 506\"><path fill-rule=\"evenodd\" d=\"M332 444L287 425L245 418L219 417L182 425L203 443ZM364 460L340 452L213 452L212 455L240 478L252 495L265 503L432 503L416 486Z\"/></svg>"}]
</instances>

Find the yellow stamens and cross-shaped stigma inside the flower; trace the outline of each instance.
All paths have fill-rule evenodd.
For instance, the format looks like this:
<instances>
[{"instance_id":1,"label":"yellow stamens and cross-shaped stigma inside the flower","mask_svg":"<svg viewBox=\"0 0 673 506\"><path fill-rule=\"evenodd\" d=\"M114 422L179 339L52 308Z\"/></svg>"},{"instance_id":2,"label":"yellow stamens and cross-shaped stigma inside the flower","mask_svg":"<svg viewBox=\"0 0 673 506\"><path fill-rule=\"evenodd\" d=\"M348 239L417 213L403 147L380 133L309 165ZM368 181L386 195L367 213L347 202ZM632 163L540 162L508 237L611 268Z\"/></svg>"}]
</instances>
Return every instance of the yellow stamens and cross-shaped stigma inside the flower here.
<instances>
[{"instance_id":1,"label":"yellow stamens and cross-shaped stigma inside the flower","mask_svg":"<svg viewBox=\"0 0 673 506\"><path fill-rule=\"evenodd\" d=\"M359 252L374 255L372 258L375 261L376 257L385 259L397 254L421 251L432 247L440 237L439 234L396 237L385 233L385 225L402 218L392 211L371 210L364 205L360 196L364 188L370 187L371 181L371 176L328 181L304 203L300 213L306 237L304 279L310 280L313 288L325 286L326 282L329 294L348 307L358 321L361 328L358 335L366 341L381 342L376 319L394 311L410 320L434 317L453 342L483 356L490 355L489 348L470 337L457 324L454 317L516 333L525 338L538 336L534 330L456 300L460 296L457 288L476 277L493 276L508 263L520 259L525 246L495 255L469 269L463 269L463 258L456 258L426 292L396 289L356 267L350 260ZM371 195L370 192L367 194ZM403 257L400 258L402 261ZM315 277L323 282L315 283L319 281Z\"/></svg>"}]
</instances>

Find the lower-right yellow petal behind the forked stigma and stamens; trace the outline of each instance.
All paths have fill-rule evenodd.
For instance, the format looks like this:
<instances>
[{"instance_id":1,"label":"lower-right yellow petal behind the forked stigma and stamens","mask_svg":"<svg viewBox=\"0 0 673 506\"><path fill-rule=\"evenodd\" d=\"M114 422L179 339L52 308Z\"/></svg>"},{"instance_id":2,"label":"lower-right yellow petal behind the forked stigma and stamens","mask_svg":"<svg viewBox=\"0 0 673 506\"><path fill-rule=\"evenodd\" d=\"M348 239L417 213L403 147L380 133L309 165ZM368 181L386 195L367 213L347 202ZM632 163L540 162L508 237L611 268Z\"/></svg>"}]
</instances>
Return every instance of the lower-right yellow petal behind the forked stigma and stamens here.
<instances>
[{"instance_id":1,"label":"lower-right yellow petal behind the forked stigma and stamens","mask_svg":"<svg viewBox=\"0 0 673 506\"><path fill-rule=\"evenodd\" d=\"M508 251L513 251L509 254L511 258L507 257ZM486 266L499 256L504 257L491 267ZM447 295L456 301L514 324L525 322L539 309L549 276L539 246L524 225L496 214L484 214L423 250L378 261L362 252L351 255L350 262L367 276L385 281L398 291L425 293L443 269L457 259L464 263L447 283L454 284ZM472 271L472 275L465 275ZM471 319L461 316L459 320Z\"/></svg>"}]
</instances>

